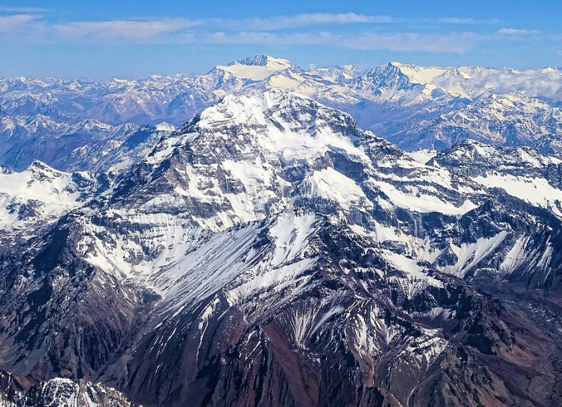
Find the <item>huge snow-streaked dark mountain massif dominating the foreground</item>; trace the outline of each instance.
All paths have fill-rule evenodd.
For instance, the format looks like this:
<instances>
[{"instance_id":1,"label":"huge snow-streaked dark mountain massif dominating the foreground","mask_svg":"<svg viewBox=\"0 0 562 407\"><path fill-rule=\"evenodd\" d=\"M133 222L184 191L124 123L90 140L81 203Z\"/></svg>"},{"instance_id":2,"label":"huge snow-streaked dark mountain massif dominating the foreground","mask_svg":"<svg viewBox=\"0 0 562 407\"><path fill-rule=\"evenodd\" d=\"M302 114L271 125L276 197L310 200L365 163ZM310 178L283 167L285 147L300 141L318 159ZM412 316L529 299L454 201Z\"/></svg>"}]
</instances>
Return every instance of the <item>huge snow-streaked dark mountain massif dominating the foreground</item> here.
<instances>
[{"instance_id":1,"label":"huge snow-streaked dark mountain massif dominating the foreground","mask_svg":"<svg viewBox=\"0 0 562 407\"><path fill-rule=\"evenodd\" d=\"M410 154L273 86L160 132L1 256L0 368L146 406L561 400L561 161Z\"/></svg>"}]
</instances>

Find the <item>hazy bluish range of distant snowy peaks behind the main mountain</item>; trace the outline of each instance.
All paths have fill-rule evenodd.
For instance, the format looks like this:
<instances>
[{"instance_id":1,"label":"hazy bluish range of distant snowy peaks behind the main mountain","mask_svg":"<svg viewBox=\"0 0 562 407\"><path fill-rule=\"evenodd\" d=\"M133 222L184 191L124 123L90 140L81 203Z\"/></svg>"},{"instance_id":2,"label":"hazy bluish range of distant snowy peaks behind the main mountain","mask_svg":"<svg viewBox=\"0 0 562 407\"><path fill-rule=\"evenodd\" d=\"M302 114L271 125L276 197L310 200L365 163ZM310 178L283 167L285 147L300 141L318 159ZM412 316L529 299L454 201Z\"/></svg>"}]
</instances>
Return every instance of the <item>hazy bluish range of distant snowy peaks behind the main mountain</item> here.
<instances>
[{"instance_id":1,"label":"hazy bluish range of distant snowy peaks behind the main mountain","mask_svg":"<svg viewBox=\"0 0 562 407\"><path fill-rule=\"evenodd\" d=\"M447 149L471 138L554 146L542 151L557 155L562 136L559 69L391 62L374 69L344 65L307 72L288 60L256 55L203 75L0 79L0 164L21 170L39 159L61 171L89 170L80 165L89 161L84 149L93 142L103 141L94 151L109 152L138 126L179 126L226 95L271 88L344 110L362 128L410 151Z\"/></svg>"}]
</instances>

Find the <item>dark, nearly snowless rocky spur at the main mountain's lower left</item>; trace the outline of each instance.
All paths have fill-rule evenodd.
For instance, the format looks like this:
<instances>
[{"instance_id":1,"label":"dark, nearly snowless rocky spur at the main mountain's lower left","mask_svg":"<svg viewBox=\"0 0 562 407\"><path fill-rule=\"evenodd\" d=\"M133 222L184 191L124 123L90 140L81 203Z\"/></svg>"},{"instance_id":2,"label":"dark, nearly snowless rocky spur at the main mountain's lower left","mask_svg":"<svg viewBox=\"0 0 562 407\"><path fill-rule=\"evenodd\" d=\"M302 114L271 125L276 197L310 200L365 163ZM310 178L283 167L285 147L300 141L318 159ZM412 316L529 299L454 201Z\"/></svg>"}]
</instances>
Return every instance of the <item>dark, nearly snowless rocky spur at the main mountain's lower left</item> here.
<instances>
[{"instance_id":1,"label":"dark, nearly snowless rocky spur at the main mountain's lower left","mask_svg":"<svg viewBox=\"0 0 562 407\"><path fill-rule=\"evenodd\" d=\"M79 258L81 239L79 225L62 218L40 241L1 258L2 315L10 321L0 327L4 367L42 380L94 378L157 299Z\"/></svg>"}]
</instances>

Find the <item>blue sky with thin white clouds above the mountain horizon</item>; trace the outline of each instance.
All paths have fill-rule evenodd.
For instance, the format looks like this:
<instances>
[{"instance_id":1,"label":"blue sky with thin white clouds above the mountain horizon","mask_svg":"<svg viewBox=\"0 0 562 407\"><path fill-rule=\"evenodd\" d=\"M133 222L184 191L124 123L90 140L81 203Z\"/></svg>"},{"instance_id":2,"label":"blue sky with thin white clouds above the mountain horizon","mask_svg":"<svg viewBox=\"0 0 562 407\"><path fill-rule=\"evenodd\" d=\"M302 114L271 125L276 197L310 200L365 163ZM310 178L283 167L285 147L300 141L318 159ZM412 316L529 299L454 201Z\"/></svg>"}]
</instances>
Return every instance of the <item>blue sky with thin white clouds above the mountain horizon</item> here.
<instances>
[{"instance_id":1,"label":"blue sky with thin white clouds above the mountain horizon","mask_svg":"<svg viewBox=\"0 0 562 407\"><path fill-rule=\"evenodd\" d=\"M266 53L301 67L391 60L562 66L562 1L10 1L0 76L203 73Z\"/></svg>"}]
</instances>

